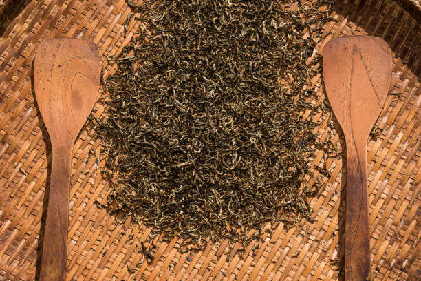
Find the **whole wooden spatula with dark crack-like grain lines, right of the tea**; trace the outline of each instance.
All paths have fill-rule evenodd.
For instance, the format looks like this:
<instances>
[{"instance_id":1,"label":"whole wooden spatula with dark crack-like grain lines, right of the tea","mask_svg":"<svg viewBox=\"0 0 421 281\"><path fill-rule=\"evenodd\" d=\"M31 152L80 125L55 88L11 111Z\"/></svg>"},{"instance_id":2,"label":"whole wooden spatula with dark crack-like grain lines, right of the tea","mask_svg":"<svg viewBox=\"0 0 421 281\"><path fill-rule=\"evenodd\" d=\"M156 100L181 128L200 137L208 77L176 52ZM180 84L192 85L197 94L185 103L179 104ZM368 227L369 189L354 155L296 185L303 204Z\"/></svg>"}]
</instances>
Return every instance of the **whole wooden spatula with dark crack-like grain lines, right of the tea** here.
<instances>
[{"instance_id":1,"label":"whole wooden spatula with dark crack-like grain lines, right of the tea","mask_svg":"<svg viewBox=\"0 0 421 281\"><path fill-rule=\"evenodd\" d=\"M333 39L323 52L323 78L347 145L345 280L367 280L370 271L367 138L389 91L390 48L378 37Z\"/></svg>"}]
</instances>

